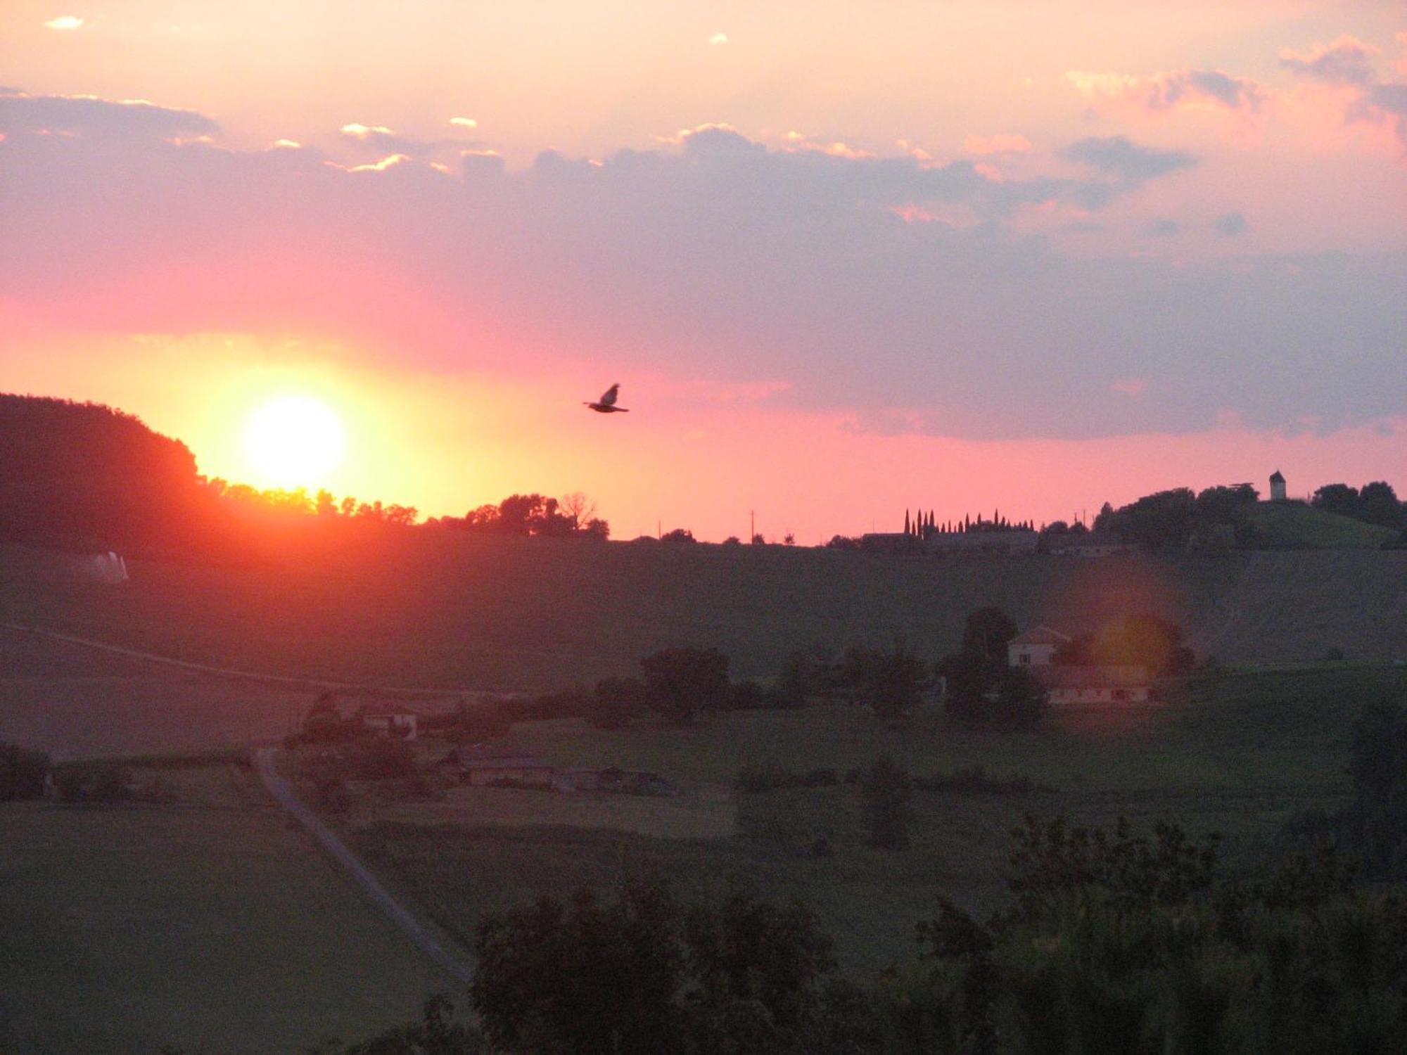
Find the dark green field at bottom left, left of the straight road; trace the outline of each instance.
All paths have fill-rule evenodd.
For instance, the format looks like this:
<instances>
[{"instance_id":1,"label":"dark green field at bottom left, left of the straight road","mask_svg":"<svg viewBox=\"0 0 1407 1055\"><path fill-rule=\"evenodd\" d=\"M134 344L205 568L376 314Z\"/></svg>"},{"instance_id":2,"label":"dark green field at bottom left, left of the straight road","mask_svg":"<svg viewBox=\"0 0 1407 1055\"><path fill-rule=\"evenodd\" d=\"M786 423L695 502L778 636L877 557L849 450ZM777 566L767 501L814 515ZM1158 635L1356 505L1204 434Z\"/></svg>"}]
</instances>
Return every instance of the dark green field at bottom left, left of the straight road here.
<instances>
[{"instance_id":1,"label":"dark green field at bottom left, left of the straight road","mask_svg":"<svg viewBox=\"0 0 1407 1055\"><path fill-rule=\"evenodd\" d=\"M449 979L235 767L162 805L0 803L0 1051L295 1052Z\"/></svg>"}]
</instances>

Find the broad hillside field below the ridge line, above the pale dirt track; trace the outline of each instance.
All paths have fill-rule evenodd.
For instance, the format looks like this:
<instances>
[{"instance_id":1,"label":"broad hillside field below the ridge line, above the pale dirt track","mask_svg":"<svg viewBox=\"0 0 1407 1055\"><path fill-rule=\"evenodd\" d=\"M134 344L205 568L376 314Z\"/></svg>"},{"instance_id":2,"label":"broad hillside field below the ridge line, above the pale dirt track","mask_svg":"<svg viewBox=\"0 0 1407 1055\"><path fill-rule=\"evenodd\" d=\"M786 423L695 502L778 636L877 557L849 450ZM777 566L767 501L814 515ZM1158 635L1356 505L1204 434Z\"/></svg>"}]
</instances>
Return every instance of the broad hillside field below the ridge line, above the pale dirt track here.
<instances>
[{"instance_id":1,"label":"broad hillside field below the ridge line, above the pale dirt track","mask_svg":"<svg viewBox=\"0 0 1407 1055\"><path fill-rule=\"evenodd\" d=\"M903 637L934 660L985 605L1067 632L1148 610L1231 664L1407 658L1407 551L903 557L409 532L298 561L128 564L110 588L0 547L0 619L217 667L495 691L591 684L670 644L757 678L815 644Z\"/></svg>"}]
</instances>

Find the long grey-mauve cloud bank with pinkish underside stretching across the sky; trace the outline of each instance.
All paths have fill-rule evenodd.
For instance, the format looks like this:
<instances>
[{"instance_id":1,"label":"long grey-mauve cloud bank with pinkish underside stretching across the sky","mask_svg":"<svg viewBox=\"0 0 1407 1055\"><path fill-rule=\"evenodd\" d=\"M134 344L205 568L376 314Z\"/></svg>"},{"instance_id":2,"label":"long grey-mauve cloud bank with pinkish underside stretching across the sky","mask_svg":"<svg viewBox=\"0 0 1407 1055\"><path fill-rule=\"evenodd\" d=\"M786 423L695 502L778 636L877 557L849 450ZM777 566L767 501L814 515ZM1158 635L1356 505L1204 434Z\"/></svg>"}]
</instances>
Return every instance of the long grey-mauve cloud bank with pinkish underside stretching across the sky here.
<instances>
[{"instance_id":1,"label":"long grey-mauve cloud bank with pinkish underside stretching across the sky","mask_svg":"<svg viewBox=\"0 0 1407 1055\"><path fill-rule=\"evenodd\" d=\"M0 288L52 328L283 335L422 373L765 383L768 408L982 439L1401 412L1382 378L1400 373L1407 255L1065 255L1003 221L1128 194L1186 167L1178 152L1083 141L1089 179L995 183L971 160L712 127L595 165L464 152L446 174L391 152L349 172L312 149L176 145L134 107L90 104L121 134L0 142ZM905 222L909 205L972 219ZM1116 399L1112 378L1147 387Z\"/></svg>"}]
</instances>

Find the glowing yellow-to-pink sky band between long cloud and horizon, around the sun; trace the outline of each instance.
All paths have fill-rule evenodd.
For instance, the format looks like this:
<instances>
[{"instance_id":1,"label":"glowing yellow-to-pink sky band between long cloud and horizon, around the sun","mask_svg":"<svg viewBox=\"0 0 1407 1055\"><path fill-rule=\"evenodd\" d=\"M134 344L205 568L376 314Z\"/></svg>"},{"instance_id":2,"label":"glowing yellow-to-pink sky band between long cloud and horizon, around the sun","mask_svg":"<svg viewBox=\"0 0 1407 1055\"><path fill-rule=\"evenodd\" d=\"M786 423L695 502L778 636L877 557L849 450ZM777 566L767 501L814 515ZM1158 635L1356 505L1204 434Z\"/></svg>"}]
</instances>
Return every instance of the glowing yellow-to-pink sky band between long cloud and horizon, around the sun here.
<instances>
[{"instance_id":1,"label":"glowing yellow-to-pink sky band between long cloud and horizon, around the sun","mask_svg":"<svg viewBox=\"0 0 1407 1055\"><path fill-rule=\"evenodd\" d=\"M1227 423L1202 433L1085 440L964 440L857 432L767 388L622 377L629 415L580 405L601 391L592 363L518 377L398 370L366 349L249 333L51 336L31 345L14 391L94 399L177 437L200 471L256 487L325 487L342 498L461 516L515 492L594 498L616 539L689 528L743 537L749 509L768 539L898 530L905 508L1037 522L1093 518L1168 487L1263 480L1279 468L1304 497L1338 480L1400 481L1407 419L1287 436ZM280 394L315 395L340 422L342 457L319 478L250 473L250 418ZM765 436L764 445L757 443Z\"/></svg>"}]
</instances>

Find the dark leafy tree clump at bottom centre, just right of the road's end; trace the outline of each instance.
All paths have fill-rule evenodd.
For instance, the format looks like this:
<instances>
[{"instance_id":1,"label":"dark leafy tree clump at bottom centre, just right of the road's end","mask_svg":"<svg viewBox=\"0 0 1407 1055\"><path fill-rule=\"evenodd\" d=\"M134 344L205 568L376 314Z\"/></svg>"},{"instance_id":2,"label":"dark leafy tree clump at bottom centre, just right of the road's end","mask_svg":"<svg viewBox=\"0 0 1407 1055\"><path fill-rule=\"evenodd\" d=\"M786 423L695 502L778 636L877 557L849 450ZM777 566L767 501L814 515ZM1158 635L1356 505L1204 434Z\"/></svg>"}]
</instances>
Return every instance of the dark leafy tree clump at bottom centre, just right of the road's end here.
<instances>
[{"instance_id":1,"label":"dark leafy tree clump at bottom centre, just right of the road's end","mask_svg":"<svg viewBox=\"0 0 1407 1055\"><path fill-rule=\"evenodd\" d=\"M799 904L684 909L657 882L543 897L478 927L471 987L502 1052L843 1052L875 1011Z\"/></svg>"}]
</instances>

